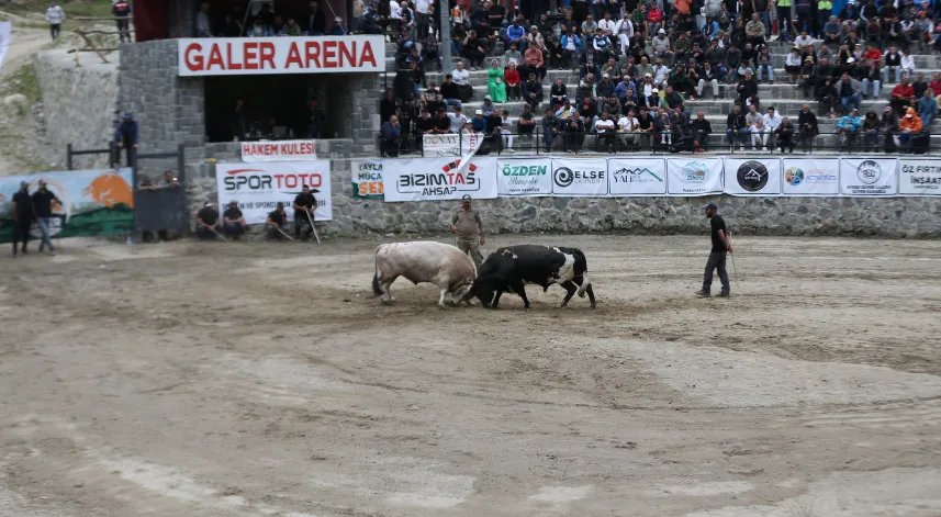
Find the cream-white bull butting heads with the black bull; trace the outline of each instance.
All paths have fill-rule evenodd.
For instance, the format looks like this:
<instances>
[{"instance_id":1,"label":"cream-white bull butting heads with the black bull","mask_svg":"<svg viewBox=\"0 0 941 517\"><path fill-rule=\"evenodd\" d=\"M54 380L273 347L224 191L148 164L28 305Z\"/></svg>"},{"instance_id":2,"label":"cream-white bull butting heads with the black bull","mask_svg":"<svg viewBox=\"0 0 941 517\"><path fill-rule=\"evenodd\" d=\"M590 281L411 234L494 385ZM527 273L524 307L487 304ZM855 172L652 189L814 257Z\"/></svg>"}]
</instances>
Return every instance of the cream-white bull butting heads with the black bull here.
<instances>
[{"instance_id":1,"label":"cream-white bull butting heads with the black bull","mask_svg":"<svg viewBox=\"0 0 941 517\"><path fill-rule=\"evenodd\" d=\"M376 274L372 292L383 302L392 302L390 288L399 277L412 283L434 283L441 290L438 306L445 306L446 295L456 303L473 285L477 267L460 249L435 241L381 244L376 248Z\"/></svg>"}]
</instances>

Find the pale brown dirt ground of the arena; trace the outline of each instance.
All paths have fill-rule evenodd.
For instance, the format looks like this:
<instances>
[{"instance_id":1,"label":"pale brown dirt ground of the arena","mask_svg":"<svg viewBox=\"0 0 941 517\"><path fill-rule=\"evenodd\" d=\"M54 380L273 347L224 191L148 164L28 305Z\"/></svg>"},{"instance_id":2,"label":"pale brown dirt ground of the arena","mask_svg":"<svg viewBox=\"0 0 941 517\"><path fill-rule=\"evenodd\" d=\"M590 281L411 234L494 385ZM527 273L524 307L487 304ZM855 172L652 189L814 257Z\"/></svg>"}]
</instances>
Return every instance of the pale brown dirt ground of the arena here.
<instances>
[{"instance_id":1,"label":"pale brown dirt ground of the arena","mask_svg":"<svg viewBox=\"0 0 941 517\"><path fill-rule=\"evenodd\" d=\"M705 236L494 240L597 311L382 306L372 240L4 257L0 516L941 515L941 243L739 238L697 300Z\"/></svg>"}]
</instances>

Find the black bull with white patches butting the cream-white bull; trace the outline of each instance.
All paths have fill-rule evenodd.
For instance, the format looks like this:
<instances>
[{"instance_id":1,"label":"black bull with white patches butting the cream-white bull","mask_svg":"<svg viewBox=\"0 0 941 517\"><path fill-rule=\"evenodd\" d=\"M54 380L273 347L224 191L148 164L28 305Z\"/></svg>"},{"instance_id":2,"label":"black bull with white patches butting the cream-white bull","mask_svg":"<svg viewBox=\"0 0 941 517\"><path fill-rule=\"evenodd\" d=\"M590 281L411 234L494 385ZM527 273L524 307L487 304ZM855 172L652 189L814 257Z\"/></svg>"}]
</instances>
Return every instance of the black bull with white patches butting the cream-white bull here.
<instances>
[{"instance_id":1,"label":"black bull with white patches butting the cream-white bull","mask_svg":"<svg viewBox=\"0 0 941 517\"><path fill-rule=\"evenodd\" d=\"M585 255L578 248L536 245L497 248L478 269L477 280L463 300L477 296L484 307L496 308L500 296L509 291L519 294L524 306L529 308L524 289L527 283L541 285L542 292L558 283L565 289L563 307L578 292L580 297L587 293L592 308L595 308L595 294L587 269Z\"/></svg>"}]
</instances>

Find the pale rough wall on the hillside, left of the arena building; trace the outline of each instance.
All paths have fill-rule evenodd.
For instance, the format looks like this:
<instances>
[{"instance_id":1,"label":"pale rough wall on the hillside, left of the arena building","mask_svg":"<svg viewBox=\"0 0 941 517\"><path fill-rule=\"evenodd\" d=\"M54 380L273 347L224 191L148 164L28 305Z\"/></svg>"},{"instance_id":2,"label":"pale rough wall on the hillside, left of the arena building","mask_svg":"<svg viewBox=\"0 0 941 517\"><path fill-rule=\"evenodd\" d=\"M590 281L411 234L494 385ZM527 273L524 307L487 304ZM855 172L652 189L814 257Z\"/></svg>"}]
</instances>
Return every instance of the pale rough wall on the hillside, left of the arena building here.
<instances>
[{"instance_id":1,"label":"pale rough wall on the hillside, left of the arena building","mask_svg":"<svg viewBox=\"0 0 941 517\"><path fill-rule=\"evenodd\" d=\"M64 49L36 55L34 64L43 92L49 162L65 168L66 146L76 150L104 147L114 133L117 110L117 66L102 64L94 54L83 53L80 67L75 55ZM111 54L110 59L117 56ZM108 167L108 155L75 158L77 169Z\"/></svg>"}]
</instances>

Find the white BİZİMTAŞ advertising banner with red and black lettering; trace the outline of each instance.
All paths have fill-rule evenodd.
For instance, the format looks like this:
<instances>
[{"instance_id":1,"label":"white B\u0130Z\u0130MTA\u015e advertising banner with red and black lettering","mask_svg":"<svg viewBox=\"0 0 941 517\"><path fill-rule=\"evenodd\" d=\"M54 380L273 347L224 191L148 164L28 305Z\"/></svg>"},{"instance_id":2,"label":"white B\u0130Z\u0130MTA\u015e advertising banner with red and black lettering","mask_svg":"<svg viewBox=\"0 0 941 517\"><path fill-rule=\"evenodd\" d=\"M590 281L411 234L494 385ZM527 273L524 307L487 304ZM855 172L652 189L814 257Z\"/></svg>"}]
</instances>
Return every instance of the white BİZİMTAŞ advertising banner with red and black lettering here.
<instances>
[{"instance_id":1,"label":"white B\u0130Z\u0130MTA\u015e advertising banner with red and black lettering","mask_svg":"<svg viewBox=\"0 0 941 517\"><path fill-rule=\"evenodd\" d=\"M496 157L383 160L382 181L388 202L494 199Z\"/></svg>"}]
</instances>

